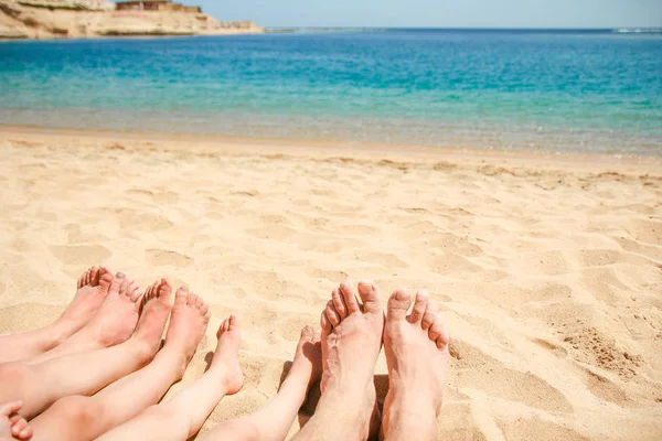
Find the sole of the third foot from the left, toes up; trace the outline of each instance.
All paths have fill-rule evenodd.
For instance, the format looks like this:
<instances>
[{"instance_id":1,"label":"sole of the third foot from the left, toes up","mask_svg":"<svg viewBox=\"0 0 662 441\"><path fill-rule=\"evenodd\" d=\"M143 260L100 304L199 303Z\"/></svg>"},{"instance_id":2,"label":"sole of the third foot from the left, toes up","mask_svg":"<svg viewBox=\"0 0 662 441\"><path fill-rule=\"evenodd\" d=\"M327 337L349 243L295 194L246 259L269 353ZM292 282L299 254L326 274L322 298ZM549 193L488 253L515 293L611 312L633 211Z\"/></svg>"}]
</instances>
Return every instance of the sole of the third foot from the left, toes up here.
<instances>
[{"instance_id":1,"label":"sole of the third foot from the left, toes up","mask_svg":"<svg viewBox=\"0 0 662 441\"><path fill-rule=\"evenodd\" d=\"M157 280L145 291L140 320L131 337L147 343L148 359L153 358L161 347L161 337L170 311L172 311L172 286L166 279Z\"/></svg>"}]
</instances>

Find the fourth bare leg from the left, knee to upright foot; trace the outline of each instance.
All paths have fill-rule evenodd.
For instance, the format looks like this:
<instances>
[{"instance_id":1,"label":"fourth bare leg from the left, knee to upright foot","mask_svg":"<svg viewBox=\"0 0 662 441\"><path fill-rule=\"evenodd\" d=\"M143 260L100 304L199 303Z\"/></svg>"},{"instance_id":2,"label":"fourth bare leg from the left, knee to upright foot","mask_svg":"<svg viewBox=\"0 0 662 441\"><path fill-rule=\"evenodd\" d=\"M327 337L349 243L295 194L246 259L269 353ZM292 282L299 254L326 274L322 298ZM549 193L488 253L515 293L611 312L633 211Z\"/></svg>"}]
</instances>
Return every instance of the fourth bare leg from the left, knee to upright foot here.
<instances>
[{"instance_id":1,"label":"fourth bare leg from the left, knee to upright foot","mask_svg":"<svg viewBox=\"0 0 662 441\"><path fill-rule=\"evenodd\" d=\"M178 290L174 306L170 293L168 288L164 295L159 293L146 304L147 311L162 318L162 322L172 308L166 344L154 359L93 397L70 396L60 399L30 421L34 430L33 440L93 440L158 402L172 383L181 379L204 335L210 312L209 305L189 292L186 287ZM149 315L145 318L147 320ZM163 326L158 331L160 341Z\"/></svg>"}]
</instances>

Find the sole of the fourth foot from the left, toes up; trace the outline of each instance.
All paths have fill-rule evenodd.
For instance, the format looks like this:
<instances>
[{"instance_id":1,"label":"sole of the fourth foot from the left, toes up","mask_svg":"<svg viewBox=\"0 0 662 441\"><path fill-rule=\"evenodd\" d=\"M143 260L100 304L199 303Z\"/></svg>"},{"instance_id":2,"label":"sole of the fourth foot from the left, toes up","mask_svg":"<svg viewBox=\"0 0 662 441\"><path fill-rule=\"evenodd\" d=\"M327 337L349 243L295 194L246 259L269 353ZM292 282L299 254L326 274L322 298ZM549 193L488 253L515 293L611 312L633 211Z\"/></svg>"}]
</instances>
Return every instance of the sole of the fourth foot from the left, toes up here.
<instances>
[{"instance_id":1,"label":"sole of the fourth foot from the left, toes up","mask_svg":"<svg viewBox=\"0 0 662 441\"><path fill-rule=\"evenodd\" d=\"M189 291L188 287L177 290L163 351L173 351L181 356L182 376L195 354L211 316L210 306L197 294Z\"/></svg>"}]
</instances>

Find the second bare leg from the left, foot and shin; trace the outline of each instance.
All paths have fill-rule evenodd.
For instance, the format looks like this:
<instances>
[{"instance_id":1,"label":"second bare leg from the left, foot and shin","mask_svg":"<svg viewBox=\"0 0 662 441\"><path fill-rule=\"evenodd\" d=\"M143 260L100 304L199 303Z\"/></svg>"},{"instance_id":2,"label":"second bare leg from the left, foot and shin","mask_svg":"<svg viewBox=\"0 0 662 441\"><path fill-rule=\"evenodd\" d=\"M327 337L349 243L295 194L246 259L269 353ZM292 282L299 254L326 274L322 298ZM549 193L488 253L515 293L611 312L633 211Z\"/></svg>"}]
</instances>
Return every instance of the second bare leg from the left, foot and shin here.
<instances>
[{"instance_id":1,"label":"second bare leg from the left, foot and shin","mask_svg":"<svg viewBox=\"0 0 662 441\"><path fill-rule=\"evenodd\" d=\"M64 355L126 342L136 329L142 294L137 281L118 272L110 281L108 293L92 320L63 344L31 358L28 363L39 364Z\"/></svg>"}]
</instances>

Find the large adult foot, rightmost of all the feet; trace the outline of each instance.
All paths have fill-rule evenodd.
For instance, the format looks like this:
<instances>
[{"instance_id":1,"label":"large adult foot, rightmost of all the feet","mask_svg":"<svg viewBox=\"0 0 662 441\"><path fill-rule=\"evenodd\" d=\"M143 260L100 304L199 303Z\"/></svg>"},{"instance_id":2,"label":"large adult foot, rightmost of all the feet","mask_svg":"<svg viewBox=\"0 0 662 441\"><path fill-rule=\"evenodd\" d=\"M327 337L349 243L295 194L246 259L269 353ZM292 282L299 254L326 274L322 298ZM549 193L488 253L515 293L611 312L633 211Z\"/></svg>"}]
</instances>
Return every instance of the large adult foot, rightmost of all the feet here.
<instances>
[{"instance_id":1,"label":"large adult foot, rightmost of all the feet","mask_svg":"<svg viewBox=\"0 0 662 441\"><path fill-rule=\"evenodd\" d=\"M437 439L437 417L448 365L448 331L425 291L406 289L388 299L384 352L388 365L388 394L384 402L381 439Z\"/></svg>"}]
</instances>

